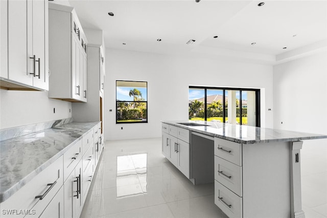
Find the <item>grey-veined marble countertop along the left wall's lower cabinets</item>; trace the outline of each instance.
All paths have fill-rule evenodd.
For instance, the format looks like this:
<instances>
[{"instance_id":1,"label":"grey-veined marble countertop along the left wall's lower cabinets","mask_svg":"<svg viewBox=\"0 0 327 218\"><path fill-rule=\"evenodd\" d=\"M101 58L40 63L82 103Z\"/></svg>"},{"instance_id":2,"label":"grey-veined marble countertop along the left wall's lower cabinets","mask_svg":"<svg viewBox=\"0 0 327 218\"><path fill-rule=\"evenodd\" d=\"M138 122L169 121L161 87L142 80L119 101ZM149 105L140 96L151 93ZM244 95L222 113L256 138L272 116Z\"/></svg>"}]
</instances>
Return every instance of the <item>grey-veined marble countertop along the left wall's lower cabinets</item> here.
<instances>
[{"instance_id":1,"label":"grey-veined marble countertop along the left wall's lower cabinets","mask_svg":"<svg viewBox=\"0 0 327 218\"><path fill-rule=\"evenodd\" d=\"M72 122L0 142L0 203L52 164L99 122Z\"/></svg>"}]
</instances>

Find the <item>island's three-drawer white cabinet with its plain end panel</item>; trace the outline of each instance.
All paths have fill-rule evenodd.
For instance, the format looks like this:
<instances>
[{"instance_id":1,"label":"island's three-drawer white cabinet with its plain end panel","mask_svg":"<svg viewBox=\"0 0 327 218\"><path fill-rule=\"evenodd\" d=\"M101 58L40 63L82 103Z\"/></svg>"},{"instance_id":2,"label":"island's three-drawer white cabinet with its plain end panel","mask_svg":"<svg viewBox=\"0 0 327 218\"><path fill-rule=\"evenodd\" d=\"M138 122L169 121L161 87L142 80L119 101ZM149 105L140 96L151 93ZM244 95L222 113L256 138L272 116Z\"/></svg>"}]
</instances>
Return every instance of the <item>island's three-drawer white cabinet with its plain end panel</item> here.
<instances>
[{"instance_id":1,"label":"island's three-drawer white cabinet with its plain end panel","mask_svg":"<svg viewBox=\"0 0 327 218\"><path fill-rule=\"evenodd\" d=\"M215 204L229 217L288 218L290 144L215 138Z\"/></svg>"}]
</instances>

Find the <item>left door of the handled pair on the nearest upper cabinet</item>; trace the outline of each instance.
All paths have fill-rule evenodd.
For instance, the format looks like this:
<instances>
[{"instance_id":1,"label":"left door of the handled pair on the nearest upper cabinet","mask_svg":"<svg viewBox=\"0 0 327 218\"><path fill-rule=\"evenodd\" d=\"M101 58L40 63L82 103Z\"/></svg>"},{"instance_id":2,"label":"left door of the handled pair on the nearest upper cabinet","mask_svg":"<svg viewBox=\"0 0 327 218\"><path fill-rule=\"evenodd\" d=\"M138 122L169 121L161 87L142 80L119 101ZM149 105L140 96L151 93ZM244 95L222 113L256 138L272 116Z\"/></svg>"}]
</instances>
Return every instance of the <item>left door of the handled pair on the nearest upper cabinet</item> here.
<instances>
[{"instance_id":1,"label":"left door of the handled pair on the nearest upper cabinet","mask_svg":"<svg viewBox=\"0 0 327 218\"><path fill-rule=\"evenodd\" d=\"M8 78L33 85L32 73L27 63L33 59L27 56L27 8L31 1L8 1Z\"/></svg>"}]
</instances>

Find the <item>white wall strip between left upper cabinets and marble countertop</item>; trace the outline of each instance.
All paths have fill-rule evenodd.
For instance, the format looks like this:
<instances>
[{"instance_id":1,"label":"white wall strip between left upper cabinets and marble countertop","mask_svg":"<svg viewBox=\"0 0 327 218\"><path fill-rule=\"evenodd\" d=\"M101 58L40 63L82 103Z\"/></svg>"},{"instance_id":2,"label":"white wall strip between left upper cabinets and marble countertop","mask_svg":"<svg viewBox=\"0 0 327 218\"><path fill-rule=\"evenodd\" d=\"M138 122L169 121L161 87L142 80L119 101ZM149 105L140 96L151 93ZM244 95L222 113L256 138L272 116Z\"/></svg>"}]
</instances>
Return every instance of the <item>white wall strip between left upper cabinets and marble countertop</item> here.
<instances>
[{"instance_id":1,"label":"white wall strip between left upper cabinets and marble countertop","mask_svg":"<svg viewBox=\"0 0 327 218\"><path fill-rule=\"evenodd\" d=\"M50 99L48 92L0 90L0 129L69 118L71 108L71 102Z\"/></svg>"}]
</instances>

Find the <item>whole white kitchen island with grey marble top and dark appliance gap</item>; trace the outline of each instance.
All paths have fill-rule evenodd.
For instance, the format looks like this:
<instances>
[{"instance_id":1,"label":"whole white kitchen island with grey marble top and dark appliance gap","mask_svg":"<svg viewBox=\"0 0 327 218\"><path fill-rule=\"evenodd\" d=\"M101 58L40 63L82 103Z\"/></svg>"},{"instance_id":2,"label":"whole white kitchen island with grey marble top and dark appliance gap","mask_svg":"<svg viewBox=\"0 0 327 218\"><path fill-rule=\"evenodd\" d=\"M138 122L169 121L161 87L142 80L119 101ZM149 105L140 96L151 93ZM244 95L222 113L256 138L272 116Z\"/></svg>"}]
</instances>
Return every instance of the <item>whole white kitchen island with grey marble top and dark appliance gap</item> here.
<instances>
[{"instance_id":1,"label":"whole white kitchen island with grey marble top and dark appliance gap","mask_svg":"<svg viewBox=\"0 0 327 218\"><path fill-rule=\"evenodd\" d=\"M193 184L215 183L229 217L305 217L302 140L325 135L206 121L162 121L162 154Z\"/></svg>"}]
</instances>

